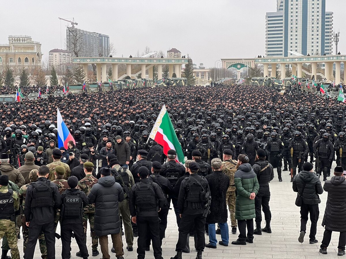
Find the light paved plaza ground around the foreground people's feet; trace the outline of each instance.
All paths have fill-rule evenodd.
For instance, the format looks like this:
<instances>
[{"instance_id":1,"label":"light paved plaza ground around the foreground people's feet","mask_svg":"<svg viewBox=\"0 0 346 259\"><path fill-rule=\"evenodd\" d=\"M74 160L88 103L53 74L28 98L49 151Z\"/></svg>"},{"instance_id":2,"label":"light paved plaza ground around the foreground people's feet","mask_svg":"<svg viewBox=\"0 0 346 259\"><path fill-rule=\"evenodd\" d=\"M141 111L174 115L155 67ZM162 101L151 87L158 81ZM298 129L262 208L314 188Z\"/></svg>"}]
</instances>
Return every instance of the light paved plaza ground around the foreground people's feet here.
<instances>
[{"instance_id":1,"label":"light paved plaza ground around the foreground people's feet","mask_svg":"<svg viewBox=\"0 0 346 259\"><path fill-rule=\"evenodd\" d=\"M335 164L335 163L334 163ZM335 165L334 165L335 166ZM333 172L333 169L332 169ZM272 233L262 233L262 236L255 236L254 243L247 243L246 246L235 246L230 244L231 241L236 240L239 232L236 235L229 234L229 246L224 247L217 245L217 249L206 248L203 252L203 258L213 259L226 259L226 258L278 258L278 259L315 259L320 257L326 257L329 259L338 258L337 245L339 233L333 233L330 246L328 247L328 255L322 255L318 252L320 242L322 241L324 228L321 226L324 210L326 207L327 193L320 195L320 217L317 225L316 239L319 241L316 244L309 244L309 229L310 222L307 224L307 234L304 242L301 244L298 242L298 235L300 230L300 213L299 208L294 205L296 193L292 190L292 183L290 183L289 172L282 172L283 182L279 182L276 176L276 170L274 170L275 178L270 183L271 201L270 208L272 211L271 228ZM333 173L332 173L333 175ZM322 185L324 183L322 182ZM230 226L230 221L228 221ZM262 228L265 226L264 215L262 221ZM88 226L88 230L89 230ZM58 230L60 232L60 230ZM220 235L216 236L218 241ZM178 239L178 228L175 221L175 214L173 211L169 212L168 225L166 229L166 237L163 239L162 244L162 256L164 259L169 259L175 255L175 244ZM208 236L206 236L206 242L208 243ZM100 247L100 255L96 257L91 256L91 237L88 234L87 244L89 247L89 258L102 258ZM109 252L111 249L111 239L109 238ZM134 251L128 252L126 250L125 236L123 236L124 258L137 258L137 238L134 240ZM18 242L19 251L22 255L22 239ZM72 259L77 259L76 252L79 251L77 243L72 239ZM61 258L61 241L56 239L56 258ZM194 248L193 237L190 237L190 249ZM111 258L116 258L114 253L111 253ZM193 249L190 253L183 253L183 259L194 259L196 252ZM346 257L346 256L344 256ZM35 259L40 258L40 252L38 249L38 243L36 246ZM153 259L153 250L146 252L146 258ZM343 257L340 257L343 258Z\"/></svg>"}]
</instances>

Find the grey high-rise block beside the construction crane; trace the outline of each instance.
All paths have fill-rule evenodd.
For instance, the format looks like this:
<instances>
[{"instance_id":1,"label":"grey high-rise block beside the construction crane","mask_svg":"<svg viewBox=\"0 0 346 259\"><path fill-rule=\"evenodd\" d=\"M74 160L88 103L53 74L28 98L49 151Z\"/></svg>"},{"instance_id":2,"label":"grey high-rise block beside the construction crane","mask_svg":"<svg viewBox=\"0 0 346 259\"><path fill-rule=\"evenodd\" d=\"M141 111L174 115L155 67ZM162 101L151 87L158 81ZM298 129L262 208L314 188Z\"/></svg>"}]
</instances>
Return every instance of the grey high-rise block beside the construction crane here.
<instances>
[{"instance_id":1,"label":"grey high-rise block beside the construction crane","mask_svg":"<svg viewBox=\"0 0 346 259\"><path fill-rule=\"evenodd\" d=\"M109 36L78 28L66 28L66 49L79 57L107 57L109 55Z\"/></svg>"}]
</instances>

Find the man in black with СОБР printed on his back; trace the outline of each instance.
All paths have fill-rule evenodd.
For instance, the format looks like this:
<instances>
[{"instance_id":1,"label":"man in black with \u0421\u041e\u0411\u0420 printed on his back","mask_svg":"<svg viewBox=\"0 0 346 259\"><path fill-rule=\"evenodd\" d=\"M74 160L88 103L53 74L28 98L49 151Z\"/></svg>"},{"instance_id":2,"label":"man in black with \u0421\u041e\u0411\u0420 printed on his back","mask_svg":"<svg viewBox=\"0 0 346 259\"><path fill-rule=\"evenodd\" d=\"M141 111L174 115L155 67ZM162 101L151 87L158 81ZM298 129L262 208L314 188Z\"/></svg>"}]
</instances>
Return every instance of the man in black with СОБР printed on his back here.
<instances>
[{"instance_id":1,"label":"man in black with \u0421\u041e\u0411\u0420 printed on his back","mask_svg":"<svg viewBox=\"0 0 346 259\"><path fill-rule=\"evenodd\" d=\"M70 176L67 179L70 189L61 194L61 243L62 243L62 259L70 259L71 257L71 237L72 232L78 244L81 257L87 259L89 256L88 248L86 248L86 236L83 230L83 207L89 204L85 193L76 189L78 179L76 176Z\"/></svg>"}]
</instances>

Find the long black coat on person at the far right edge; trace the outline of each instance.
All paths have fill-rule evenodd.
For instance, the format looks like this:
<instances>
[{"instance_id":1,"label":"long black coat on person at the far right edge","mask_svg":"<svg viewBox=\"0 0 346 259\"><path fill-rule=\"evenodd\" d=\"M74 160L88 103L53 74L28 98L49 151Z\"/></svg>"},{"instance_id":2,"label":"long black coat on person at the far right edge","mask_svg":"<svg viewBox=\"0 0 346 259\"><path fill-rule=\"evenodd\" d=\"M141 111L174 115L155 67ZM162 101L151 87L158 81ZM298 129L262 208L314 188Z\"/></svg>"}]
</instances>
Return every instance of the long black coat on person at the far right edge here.
<instances>
[{"instance_id":1,"label":"long black coat on person at the far right edge","mask_svg":"<svg viewBox=\"0 0 346 259\"><path fill-rule=\"evenodd\" d=\"M325 181L323 189L328 192L328 198L322 226L331 231L346 231L345 177L333 176L330 181Z\"/></svg>"}]
</instances>

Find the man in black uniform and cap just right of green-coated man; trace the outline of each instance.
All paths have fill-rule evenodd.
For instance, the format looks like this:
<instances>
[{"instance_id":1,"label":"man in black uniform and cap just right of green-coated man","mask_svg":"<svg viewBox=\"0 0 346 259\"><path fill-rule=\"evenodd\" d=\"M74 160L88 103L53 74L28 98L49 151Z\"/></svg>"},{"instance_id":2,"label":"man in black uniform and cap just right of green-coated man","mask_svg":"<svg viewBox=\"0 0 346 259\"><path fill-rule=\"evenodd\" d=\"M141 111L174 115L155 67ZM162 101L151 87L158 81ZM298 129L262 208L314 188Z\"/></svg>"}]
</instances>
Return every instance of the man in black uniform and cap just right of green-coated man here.
<instances>
[{"instance_id":1,"label":"man in black uniform and cap just right of green-coated man","mask_svg":"<svg viewBox=\"0 0 346 259\"><path fill-rule=\"evenodd\" d=\"M273 134L273 132L272 132ZM273 151L274 152L274 151ZM272 219L272 213L269 208L269 200L270 200L270 190L269 190L269 182L274 179L274 170L273 166L265 160L266 152L263 149L257 150L256 154L256 162L253 165L253 170L257 175L258 184L260 185L260 189L255 197L255 212L256 212L256 229L254 230L255 235L262 235L263 232L271 233L272 230L270 228L270 221ZM264 219L266 226L261 229L262 222L262 211L264 213Z\"/></svg>"}]
</instances>

